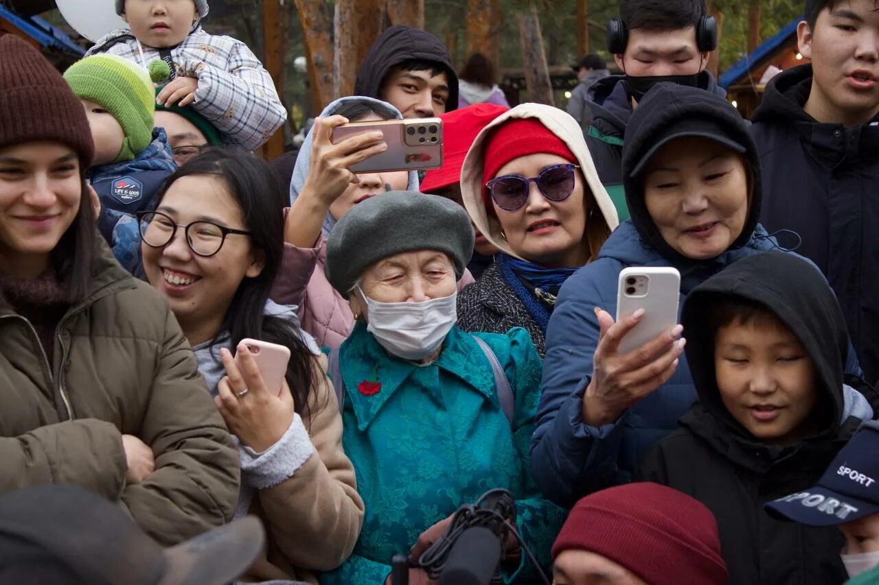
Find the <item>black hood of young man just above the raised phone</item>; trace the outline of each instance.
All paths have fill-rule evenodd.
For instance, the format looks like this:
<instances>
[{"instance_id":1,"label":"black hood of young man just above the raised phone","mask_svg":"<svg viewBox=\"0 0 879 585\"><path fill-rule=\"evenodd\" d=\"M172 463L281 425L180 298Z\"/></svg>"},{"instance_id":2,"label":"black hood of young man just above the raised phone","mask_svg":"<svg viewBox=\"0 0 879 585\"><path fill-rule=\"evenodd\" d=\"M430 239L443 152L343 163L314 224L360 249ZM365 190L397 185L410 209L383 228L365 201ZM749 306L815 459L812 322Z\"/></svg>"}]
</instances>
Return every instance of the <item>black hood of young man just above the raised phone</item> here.
<instances>
[{"instance_id":1,"label":"black hood of young man just above the raised phone","mask_svg":"<svg viewBox=\"0 0 879 585\"><path fill-rule=\"evenodd\" d=\"M446 112L458 109L458 76L452 67L452 58L442 41L430 32L411 26L393 25L381 33L367 58L360 65L357 81L354 82L354 95L381 99L381 82L391 68L403 61L433 61L448 76L448 101Z\"/></svg>"}]
</instances>

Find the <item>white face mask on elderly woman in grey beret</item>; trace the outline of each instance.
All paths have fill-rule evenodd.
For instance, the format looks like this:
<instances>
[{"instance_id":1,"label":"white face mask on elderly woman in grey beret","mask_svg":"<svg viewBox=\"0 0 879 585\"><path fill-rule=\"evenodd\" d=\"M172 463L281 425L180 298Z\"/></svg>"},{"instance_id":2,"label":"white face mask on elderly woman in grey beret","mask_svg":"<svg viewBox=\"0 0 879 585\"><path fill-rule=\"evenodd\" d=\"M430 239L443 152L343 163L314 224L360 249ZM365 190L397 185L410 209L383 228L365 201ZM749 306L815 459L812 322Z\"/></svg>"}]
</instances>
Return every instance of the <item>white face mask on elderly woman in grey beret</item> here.
<instances>
[{"instance_id":1,"label":"white face mask on elderly woman in grey beret","mask_svg":"<svg viewBox=\"0 0 879 585\"><path fill-rule=\"evenodd\" d=\"M418 360L439 349L458 320L458 293L420 303L382 303L367 297L369 324L367 331L381 347L398 358Z\"/></svg>"}]
</instances>

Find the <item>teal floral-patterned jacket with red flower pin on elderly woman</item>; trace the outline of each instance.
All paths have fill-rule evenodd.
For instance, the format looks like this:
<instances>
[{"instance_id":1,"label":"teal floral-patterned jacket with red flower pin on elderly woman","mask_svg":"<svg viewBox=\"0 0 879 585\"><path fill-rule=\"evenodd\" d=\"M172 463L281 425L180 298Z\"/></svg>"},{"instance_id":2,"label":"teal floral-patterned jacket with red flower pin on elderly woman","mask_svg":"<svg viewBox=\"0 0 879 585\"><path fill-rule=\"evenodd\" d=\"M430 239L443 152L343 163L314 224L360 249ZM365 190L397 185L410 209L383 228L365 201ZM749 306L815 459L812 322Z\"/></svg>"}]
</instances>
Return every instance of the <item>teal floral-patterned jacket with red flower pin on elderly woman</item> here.
<instances>
[{"instance_id":1,"label":"teal floral-patterned jacket with red flower pin on elderly woman","mask_svg":"<svg viewBox=\"0 0 879 585\"><path fill-rule=\"evenodd\" d=\"M474 336L490 345L510 381L515 432ZM323 574L324 585L383 583L395 554L408 554L423 531L491 488L510 491L519 533L541 567L551 564L566 511L541 497L530 473L541 358L521 328L506 335L453 328L444 343L430 365L391 357L363 323L342 343L342 440L366 517L352 557ZM533 571L523 552L505 581L534 582Z\"/></svg>"}]
</instances>

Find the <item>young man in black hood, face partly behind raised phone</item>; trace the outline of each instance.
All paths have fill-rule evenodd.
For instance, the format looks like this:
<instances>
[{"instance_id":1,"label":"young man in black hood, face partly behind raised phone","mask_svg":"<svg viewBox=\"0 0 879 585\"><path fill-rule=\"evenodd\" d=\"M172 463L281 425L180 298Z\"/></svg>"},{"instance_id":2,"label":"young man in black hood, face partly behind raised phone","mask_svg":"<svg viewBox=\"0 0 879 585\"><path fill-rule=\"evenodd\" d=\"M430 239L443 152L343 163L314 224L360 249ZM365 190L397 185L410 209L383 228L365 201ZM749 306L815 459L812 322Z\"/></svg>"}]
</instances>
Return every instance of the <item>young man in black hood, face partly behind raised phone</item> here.
<instances>
[{"instance_id":1,"label":"young man in black hood, face partly behind raised phone","mask_svg":"<svg viewBox=\"0 0 879 585\"><path fill-rule=\"evenodd\" d=\"M458 76L446 46L430 32L394 25L360 65L355 96L381 99L403 118L432 118L458 107Z\"/></svg>"}]
</instances>

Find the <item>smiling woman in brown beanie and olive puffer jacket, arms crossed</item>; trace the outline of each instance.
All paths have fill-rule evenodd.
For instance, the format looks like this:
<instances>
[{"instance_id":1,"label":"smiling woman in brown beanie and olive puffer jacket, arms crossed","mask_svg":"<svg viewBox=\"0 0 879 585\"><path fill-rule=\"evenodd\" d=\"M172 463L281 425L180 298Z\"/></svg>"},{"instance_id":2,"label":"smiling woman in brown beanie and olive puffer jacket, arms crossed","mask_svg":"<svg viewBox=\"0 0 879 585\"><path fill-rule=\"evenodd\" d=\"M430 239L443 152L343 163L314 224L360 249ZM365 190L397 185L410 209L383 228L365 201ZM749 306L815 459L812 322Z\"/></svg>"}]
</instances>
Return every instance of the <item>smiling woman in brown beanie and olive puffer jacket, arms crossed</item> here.
<instances>
[{"instance_id":1,"label":"smiling woman in brown beanie and olive puffer jacket, arms crossed","mask_svg":"<svg viewBox=\"0 0 879 585\"><path fill-rule=\"evenodd\" d=\"M0 493L69 483L163 545L224 524L238 459L161 296L98 238L83 106L0 37Z\"/></svg>"}]
</instances>

